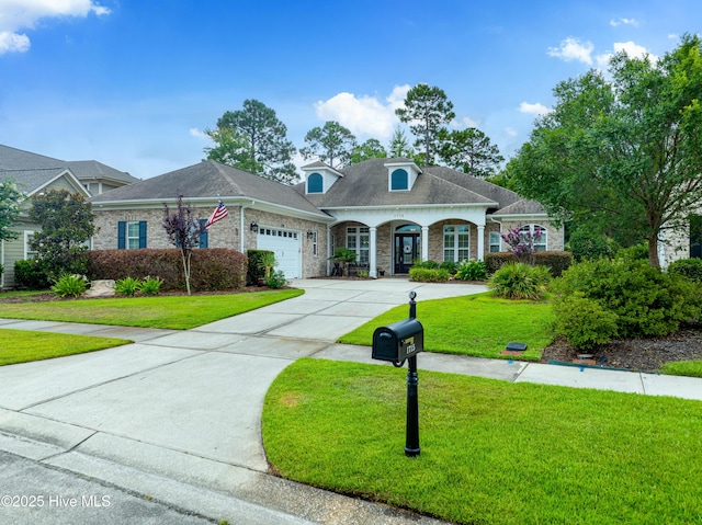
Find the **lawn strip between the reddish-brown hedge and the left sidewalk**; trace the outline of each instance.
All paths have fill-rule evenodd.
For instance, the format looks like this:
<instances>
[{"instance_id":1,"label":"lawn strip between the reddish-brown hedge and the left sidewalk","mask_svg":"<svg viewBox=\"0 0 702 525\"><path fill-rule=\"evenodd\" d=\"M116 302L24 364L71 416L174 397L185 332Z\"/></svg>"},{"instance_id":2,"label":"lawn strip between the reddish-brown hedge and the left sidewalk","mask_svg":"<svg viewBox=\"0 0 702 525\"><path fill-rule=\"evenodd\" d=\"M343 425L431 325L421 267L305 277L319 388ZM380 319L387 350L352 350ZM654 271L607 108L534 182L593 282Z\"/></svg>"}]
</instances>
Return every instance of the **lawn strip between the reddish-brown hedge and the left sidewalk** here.
<instances>
[{"instance_id":1,"label":"lawn strip between the reddish-brown hedge and the left sidewalk","mask_svg":"<svg viewBox=\"0 0 702 525\"><path fill-rule=\"evenodd\" d=\"M0 318L188 330L304 294L280 289L226 295L127 297L0 305Z\"/></svg>"}]
</instances>

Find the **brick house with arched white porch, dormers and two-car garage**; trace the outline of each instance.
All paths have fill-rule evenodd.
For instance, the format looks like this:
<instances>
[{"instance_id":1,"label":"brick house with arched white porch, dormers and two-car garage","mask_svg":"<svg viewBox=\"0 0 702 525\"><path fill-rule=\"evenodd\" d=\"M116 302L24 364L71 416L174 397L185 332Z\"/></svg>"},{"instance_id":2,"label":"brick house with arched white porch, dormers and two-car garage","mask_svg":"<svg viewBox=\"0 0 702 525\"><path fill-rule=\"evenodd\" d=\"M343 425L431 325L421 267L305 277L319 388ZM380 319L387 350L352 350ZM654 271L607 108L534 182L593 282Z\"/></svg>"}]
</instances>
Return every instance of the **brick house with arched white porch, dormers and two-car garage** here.
<instances>
[{"instance_id":1,"label":"brick house with arched white porch, dormers and two-car garage","mask_svg":"<svg viewBox=\"0 0 702 525\"><path fill-rule=\"evenodd\" d=\"M163 203L172 207L180 195L203 220L219 201L227 206L202 248L272 250L287 278L329 275L328 259L341 247L373 277L407 274L417 259L483 260L505 250L500 232L514 227L539 229L539 250L564 248L563 229L541 205L449 168L398 158L303 171L304 182L286 186L207 160L94 196L93 248L169 247Z\"/></svg>"}]
</instances>

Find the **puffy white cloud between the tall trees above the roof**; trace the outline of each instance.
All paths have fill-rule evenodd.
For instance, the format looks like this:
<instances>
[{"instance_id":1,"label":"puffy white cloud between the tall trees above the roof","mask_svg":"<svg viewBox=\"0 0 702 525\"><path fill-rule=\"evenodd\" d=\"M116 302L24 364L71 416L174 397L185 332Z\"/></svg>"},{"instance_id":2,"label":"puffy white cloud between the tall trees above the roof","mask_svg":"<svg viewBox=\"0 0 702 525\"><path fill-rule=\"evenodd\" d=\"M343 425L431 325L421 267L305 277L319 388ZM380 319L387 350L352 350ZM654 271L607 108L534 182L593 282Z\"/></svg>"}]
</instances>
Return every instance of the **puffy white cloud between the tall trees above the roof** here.
<instances>
[{"instance_id":1,"label":"puffy white cloud between the tall trees above the roof","mask_svg":"<svg viewBox=\"0 0 702 525\"><path fill-rule=\"evenodd\" d=\"M315 104L315 112L322 121L336 121L348 127L359 138L369 136L387 140L398 119L395 110L401 107L408 85L397 85L381 102L375 96L356 96L353 93L338 93L331 99Z\"/></svg>"}]
</instances>

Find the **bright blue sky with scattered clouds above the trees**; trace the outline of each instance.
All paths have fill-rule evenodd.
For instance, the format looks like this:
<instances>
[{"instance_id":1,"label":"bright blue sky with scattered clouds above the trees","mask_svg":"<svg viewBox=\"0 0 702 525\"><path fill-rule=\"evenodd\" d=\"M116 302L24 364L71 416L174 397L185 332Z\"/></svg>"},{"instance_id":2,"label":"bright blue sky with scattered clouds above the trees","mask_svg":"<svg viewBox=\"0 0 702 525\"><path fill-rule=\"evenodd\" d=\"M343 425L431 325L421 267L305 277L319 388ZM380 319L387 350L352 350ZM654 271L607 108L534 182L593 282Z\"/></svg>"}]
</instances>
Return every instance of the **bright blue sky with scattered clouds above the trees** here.
<instances>
[{"instance_id":1,"label":"bright blue sky with scattered clouds above the trees","mask_svg":"<svg viewBox=\"0 0 702 525\"><path fill-rule=\"evenodd\" d=\"M424 82L509 158L559 81L701 26L698 0L0 0L0 144L146 179L256 99L298 148L326 121L386 145Z\"/></svg>"}]
</instances>

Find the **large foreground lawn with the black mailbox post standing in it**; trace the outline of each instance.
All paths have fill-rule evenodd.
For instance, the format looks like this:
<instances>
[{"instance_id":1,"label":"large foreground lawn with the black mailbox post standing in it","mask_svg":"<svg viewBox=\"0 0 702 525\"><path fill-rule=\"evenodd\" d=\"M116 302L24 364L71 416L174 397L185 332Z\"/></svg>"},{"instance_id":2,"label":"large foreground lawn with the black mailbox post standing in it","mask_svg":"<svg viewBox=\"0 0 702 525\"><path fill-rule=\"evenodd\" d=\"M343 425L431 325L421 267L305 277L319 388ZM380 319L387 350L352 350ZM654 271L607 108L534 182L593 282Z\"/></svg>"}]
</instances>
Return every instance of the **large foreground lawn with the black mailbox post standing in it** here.
<instances>
[{"instance_id":1,"label":"large foreground lawn with the black mailbox post standing in it","mask_svg":"<svg viewBox=\"0 0 702 525\"><path fill-rule=\"evenodd\" d=\"M421 357L421 356L420 356ZM702 403L303 358L262 416L282 476L461 524L702 522Z\"/></svg>"}]
</instances>

